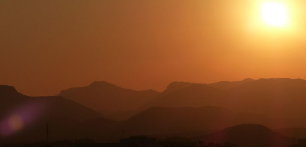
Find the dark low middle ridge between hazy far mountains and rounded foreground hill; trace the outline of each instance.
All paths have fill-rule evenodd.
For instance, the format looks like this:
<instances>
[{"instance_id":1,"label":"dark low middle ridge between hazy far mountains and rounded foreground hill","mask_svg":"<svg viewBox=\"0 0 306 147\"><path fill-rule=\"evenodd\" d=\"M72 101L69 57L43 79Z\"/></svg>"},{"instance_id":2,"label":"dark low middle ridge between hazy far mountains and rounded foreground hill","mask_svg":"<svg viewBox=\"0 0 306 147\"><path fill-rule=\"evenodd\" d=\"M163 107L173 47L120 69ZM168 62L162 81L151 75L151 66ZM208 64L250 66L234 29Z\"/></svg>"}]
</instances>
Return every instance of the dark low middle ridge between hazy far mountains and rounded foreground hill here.
<instances>
[{"instance_id":1,"label":"dark low middle ridge between hazy far mountains and rounded foreground hill","mask_svg":"<svg viewBox=\"0 0 306 147\"><path fill-rule=\"evenodd\" d=\"M212 130L241 123L264 123L267 118L249 113L235 113L221 107L151 107L130 119L111 121L105 118L88 119L74 128L79 138L96 141L116 141L125 135L149 135L170 137L182 135L195 137Z\"/></svg>"}]
</instances>

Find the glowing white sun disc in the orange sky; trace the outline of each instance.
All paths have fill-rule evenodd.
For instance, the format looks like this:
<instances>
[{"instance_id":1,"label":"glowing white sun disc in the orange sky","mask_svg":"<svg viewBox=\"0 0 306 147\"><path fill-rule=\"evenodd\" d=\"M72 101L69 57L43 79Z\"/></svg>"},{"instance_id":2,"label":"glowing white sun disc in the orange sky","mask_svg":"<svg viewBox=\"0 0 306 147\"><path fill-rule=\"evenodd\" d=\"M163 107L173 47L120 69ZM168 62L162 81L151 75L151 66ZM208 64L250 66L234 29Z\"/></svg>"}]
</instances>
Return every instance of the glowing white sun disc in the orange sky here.
<instances>
[{"instance_id":1,"label":"glowing white sun disc in the orange sky","mask_svg":"<svg viewBox=\"0 0 306 147\"><path fill-rule=\"evenodd\" d=\"M284 26L287 24L287 10L282 3L265 2L262 6L263 20L268 25Z\"/></svg>"}]
</instances>

